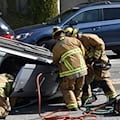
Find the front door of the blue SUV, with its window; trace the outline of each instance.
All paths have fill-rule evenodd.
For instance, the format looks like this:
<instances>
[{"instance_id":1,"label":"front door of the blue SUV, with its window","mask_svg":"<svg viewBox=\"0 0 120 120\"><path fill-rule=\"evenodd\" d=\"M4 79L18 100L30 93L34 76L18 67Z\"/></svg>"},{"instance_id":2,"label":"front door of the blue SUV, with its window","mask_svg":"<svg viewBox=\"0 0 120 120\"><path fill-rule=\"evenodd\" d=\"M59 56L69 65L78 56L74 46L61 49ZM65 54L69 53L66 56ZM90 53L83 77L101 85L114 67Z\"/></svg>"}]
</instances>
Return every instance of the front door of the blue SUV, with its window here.
<instances>
[{"instance_id":1,"label":"front door of the blue SUV, with its window","mask_svg":"<svg viewBox=\"0 0 120 120\"><path fill-rule=\"evenodd\" d=\"M102 10L93 9L79 12L67 24L83 33L101 33Z\"/></svg>"}]
</instances>

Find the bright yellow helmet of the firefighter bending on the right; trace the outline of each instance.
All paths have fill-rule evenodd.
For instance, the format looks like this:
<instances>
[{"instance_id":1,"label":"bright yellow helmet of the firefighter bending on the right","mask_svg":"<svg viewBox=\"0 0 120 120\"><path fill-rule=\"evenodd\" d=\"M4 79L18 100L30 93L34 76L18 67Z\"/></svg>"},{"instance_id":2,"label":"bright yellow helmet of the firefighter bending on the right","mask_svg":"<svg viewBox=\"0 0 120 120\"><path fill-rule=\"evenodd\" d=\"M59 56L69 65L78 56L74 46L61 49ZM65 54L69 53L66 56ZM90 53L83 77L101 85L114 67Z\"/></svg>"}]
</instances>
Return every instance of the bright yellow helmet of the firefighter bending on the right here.
<instances>
[{"instance_id":1,"label":"bright yellow helmet of the firefighter bending on the right","mask_svg":"<svg viewBox=\"0 0 120 120\"><path fill-rule=\"evenodd\" d=\"M70 37L75 37L75 35L78 33L78 29L74 29L72 27L67 27L64 29L64 32L67 36L70 36Z\"/></svg>"}]
</instances>

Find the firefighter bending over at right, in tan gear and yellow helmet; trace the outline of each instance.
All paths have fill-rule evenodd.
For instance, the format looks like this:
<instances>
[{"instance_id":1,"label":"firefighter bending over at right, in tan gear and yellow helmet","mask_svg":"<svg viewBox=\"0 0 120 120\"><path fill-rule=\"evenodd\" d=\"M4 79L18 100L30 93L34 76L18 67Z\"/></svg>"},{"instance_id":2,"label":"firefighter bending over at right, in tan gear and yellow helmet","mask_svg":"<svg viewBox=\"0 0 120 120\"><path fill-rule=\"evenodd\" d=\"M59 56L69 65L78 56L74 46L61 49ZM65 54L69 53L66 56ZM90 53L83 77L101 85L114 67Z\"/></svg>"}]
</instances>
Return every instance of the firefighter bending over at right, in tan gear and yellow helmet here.
<instances>
[{"instance_id":1,"label":"firefighter bending over at right, in tan gear and yellow helmet","mask_svg":"<svg viewBox=\"0 0 120 120\"><path fill-rule=\"evenodd\" d=\"M104 41L95 34L82 34L78 29L68 27L64 30L67 36L78 38L85 47L85 60L88 66L88 75L83 87L83 102L91 98L91 82L94 80L101 87L109 99L116 97L116 90L110 80L111 64L105 53ZM94 82L92 82L94 83Z\"/></svg>"}]
</instances>

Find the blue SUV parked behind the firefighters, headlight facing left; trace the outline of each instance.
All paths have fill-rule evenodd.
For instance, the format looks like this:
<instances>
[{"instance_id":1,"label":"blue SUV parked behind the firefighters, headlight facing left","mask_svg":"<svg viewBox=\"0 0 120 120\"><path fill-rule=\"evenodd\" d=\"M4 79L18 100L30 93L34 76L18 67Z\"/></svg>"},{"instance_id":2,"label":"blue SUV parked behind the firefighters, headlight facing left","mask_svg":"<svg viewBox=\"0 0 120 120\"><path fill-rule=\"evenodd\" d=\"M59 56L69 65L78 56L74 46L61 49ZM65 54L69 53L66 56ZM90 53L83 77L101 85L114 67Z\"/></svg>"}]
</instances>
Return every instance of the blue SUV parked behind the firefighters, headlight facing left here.
<instances>
[{"instance_id":1,"label":"blue SUV parked behind the firefighters, headlight facing left","mask_svg":"<svg viewBox=\"0 0 120 120\"><path fill-rule=\"evenodd\" d=\"M120 3L118 2L80 4L46 24L16 29L16 38L30 44L42 45L44 41L51 39L54 26L62 28L73 26L83 33L95 33L103 38L106 49L120 54Z\"/></svg>"}]
</instances>

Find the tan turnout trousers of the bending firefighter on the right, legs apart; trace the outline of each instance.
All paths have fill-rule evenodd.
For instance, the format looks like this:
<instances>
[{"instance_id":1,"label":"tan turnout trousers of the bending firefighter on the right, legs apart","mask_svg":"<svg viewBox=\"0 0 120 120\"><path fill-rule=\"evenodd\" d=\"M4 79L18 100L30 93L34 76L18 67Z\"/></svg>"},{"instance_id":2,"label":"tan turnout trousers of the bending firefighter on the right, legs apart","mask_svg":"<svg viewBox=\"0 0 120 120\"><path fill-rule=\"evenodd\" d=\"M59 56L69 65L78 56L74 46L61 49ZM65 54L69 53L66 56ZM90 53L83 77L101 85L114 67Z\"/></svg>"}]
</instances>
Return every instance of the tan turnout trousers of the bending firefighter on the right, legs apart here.
<instances>
[{"instance_id":1,"label":"tan turnout trousers of the bending firefighter on the right, legs apart","mask_svg":"<svg viewBox=\"0 0 120 120\"><path fill-rule=\"evenodd\" d=\"M86 76L83 87L83 99L91 97L91 83L93 83L93 87L102 88L108 98L112 99L116 97L117 93L112 84L112 80L110 80L109 70L93 69L92 67L88 67L88 75Z\"/></svg>"}]
</instances>

